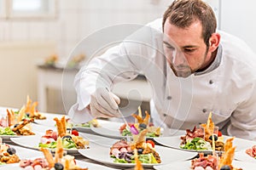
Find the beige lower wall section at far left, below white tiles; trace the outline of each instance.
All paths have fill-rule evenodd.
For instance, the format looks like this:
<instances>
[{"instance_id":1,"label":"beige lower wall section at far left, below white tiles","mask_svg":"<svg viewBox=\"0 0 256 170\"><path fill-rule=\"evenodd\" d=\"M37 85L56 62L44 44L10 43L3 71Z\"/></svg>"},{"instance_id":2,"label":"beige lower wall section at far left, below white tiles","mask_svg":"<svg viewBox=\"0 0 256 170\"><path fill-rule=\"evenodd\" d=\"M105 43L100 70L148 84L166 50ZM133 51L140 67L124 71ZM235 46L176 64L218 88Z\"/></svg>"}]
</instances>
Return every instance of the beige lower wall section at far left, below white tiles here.
<instances>
[{"instance_id":1,"label":"beige lower wall section at far left, below white tiles","mask_svg":"<svg viewBox=\"0 0 256 170\"><path fill-rule=\"evenodd\" d=\"M38 59L55 51L55 42L0 43L0 105L21 108L26 95L37 100Z\"/></svg>"}]
</instances>

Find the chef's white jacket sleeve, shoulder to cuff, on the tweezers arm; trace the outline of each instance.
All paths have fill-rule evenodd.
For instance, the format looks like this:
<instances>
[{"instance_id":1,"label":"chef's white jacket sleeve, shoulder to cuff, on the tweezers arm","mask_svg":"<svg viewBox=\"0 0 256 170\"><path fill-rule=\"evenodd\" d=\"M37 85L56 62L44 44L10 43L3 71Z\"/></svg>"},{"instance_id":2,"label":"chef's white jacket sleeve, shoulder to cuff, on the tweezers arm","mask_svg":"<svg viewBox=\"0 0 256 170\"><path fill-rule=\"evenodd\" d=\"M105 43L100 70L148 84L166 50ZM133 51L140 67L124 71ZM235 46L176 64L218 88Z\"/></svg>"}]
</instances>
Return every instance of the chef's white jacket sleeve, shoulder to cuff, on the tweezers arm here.
<instances>
[{"instance_id":1,"label":"chef's white jacket sleeve, shoulder to cuff, on the tweezers arm","mask_svg":"<svg viewBox=\"0 0 256 170\"><path fill-rule=\"evenodd\" d=\"M90 112L86 106L90 104L90 95L96 88L112 89L113 84L132 80L145 71L152 74L149 68L155 69L157 66L154 65L154 59L160 54L157 50L162 45L159 41L160 36L159 30L143 26L126 37L118 46L109 48L105 54L85 65L75 77L77 103L68 115L73 120L88 122L93 117L89 116Z\"/></svg>"}]
</instances>

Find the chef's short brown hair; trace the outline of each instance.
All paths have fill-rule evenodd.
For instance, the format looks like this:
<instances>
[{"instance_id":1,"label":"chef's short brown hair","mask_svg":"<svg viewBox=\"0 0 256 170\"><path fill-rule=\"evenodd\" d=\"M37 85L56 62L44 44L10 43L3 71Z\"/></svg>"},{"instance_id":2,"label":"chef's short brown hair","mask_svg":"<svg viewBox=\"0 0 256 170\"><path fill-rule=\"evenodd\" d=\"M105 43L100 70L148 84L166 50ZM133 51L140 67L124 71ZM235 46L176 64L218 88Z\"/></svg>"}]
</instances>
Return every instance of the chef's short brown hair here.
<instances>
[{"instance_id":1,"label":"chef's short brown hair","mask_svg":"<svg viewBox=\"0 0 256 170\"><path fill-rule=\"evenodd\" d=\"M217 27L216 17L212 8L201 0L175 0L167 8L163 16L163 31L166 20L180 28L186 28L195 20L200 20L202 37L207 46L209 45L209 38L216 31Z\"/></svg>"}]
</instances>

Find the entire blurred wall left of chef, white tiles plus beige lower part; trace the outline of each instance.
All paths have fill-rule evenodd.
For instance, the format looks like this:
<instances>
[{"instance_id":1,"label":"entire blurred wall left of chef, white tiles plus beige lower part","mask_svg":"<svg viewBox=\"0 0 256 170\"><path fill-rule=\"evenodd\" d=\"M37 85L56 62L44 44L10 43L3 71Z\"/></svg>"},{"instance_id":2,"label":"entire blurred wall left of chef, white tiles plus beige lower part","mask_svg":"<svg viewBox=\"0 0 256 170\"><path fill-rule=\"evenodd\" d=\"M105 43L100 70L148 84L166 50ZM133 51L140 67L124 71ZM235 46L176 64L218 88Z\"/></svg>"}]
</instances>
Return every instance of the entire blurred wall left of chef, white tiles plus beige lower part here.
<instances>
[{"instance_id":1,"label":"entire blurred wall left of chef, white tiles plus beige lower part","mask_svg":"<svg viewBox=\"0 0 256 170\"><path fill-rule=\"evenodd\" d=\"M0 67L4 79L4 85L0 83L0 105L20 108L26 102L26 94L32 100L38 99L38 61L43 61L50 54L58 54L61 62L65 63L84 37L107 26L146 24L161 17L172 0L56 2L54 19L0 18L0 63L4 65ZM65 112L61 91L50 89L48 94L47 110Z\"/></svg>"}]
</instances>

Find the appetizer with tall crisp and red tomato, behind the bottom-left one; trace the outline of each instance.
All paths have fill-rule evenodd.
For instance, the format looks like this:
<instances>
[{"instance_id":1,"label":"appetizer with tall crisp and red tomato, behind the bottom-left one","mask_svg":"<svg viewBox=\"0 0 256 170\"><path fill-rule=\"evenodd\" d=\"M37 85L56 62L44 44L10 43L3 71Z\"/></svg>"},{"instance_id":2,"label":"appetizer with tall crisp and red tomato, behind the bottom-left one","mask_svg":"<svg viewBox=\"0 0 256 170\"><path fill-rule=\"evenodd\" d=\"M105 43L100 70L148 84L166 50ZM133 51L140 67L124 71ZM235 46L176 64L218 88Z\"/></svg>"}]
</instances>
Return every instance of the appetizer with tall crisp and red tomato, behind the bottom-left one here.
<instances>
[{"instance_id":1,"label":"appetizer with tall crisp and red tomato, behind the bottom-left one","mask_svg":"<svg viewBox=\"0 0 256 170\"><path fill-rule=\"evenodd\" d=\"M57 138L60 137L64 149L84 149L89 147L89 141L79 136L79 132L72 130L67 132L67 124L65 116L61 119L54 118L56 122L57 132L49 129L44 136L41 137L41 141L38 147L55 149L57 146Z\"/></svg>"}]
</instances>

